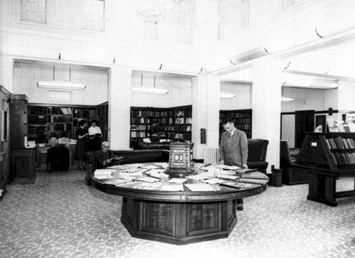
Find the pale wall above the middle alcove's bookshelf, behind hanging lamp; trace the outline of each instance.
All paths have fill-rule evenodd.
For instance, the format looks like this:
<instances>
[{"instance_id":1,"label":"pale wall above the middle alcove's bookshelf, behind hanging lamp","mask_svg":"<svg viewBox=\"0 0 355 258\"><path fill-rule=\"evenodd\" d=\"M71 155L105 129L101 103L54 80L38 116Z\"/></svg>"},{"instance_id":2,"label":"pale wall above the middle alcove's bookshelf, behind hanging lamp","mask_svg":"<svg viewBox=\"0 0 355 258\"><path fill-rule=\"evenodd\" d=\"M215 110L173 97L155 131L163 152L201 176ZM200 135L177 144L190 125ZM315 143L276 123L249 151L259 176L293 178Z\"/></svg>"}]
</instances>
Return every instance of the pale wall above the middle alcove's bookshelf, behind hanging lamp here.
<instances>
[{"instance_id":1,"label":"pale wall above the middle alcove's bookshelf, behind hanging lamp","mask_svg":"<svg viewBox=\"0 0 355 258\"><path fill-rule=\"evenodd\" d=\"M141 72L132 73L131 86L141 87ZM154 86L153 73L143 73L143 86ZM157 73L155 87L169 92L167 95L131 93L131 107L177 107L192 104L191 77Z\"/></svg>"}]
</instances>

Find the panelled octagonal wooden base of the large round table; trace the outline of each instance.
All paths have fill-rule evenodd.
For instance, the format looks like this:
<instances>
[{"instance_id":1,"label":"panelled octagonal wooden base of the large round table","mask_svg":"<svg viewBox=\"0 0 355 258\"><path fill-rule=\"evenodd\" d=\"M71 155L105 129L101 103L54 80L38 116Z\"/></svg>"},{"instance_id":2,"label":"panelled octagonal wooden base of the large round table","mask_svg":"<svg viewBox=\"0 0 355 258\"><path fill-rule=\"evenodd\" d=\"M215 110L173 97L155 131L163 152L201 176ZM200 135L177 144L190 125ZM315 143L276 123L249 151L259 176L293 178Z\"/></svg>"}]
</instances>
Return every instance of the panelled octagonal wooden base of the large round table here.
<instances>
[{"instance_id":1,"label":"panelled octagonal wooden base of the large round table","mask_svg":"<svg viewBox=\"0 0 355 258\"><path fill-rule=\"evenodd\" d=\"M132 237L190 244L228 237L236 200L175 203L123 198L121 222Z\"/></svg>"}]
</instances>

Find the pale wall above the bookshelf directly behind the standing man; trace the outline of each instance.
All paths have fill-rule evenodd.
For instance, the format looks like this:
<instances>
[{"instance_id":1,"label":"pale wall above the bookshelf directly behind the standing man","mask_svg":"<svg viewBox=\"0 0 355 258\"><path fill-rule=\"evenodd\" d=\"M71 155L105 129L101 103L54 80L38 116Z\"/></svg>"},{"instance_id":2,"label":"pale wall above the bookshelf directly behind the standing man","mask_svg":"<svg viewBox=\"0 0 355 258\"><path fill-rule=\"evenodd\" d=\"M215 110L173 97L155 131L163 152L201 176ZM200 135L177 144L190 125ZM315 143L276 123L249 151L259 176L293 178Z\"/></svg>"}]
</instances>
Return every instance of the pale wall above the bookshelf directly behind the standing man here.
<instances>
[{"instance_id":1,"label":"pale wall above the bookshelf directly behind the standing man","mask_svg":"<svg viewBox=\"0 0 355 258\"><path fill-rule=\"evenodd\" d=\"M221 82L221 91L236 95L233 99L221 99L220 110L251 109L251 85L238 82Z\"/></svg>"}]
</instances>

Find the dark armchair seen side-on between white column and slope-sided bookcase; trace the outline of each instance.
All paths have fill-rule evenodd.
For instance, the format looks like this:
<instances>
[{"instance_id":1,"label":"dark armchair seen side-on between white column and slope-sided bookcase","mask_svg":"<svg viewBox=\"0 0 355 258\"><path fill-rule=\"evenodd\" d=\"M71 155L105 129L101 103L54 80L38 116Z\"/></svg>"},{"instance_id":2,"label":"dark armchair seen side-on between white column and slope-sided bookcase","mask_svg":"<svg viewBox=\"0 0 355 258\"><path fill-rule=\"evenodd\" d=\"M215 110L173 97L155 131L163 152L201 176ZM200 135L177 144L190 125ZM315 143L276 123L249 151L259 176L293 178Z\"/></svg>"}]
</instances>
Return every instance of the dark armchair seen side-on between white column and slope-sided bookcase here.
<instances>
[{"instance_id":1,"label":"dark armchair seen side-on between white column and slope-sided bookcase","mask_svg":"<svg viewBox=\"0 0 355 258\"><path fill-rule=\"evenodd\" d=\"M280 141L280 168L283 170L282 181L287 185L308 183L308 173L295 167L295 161L300 149L290 148L289 142Z\"/></svg>"}]
</instances>

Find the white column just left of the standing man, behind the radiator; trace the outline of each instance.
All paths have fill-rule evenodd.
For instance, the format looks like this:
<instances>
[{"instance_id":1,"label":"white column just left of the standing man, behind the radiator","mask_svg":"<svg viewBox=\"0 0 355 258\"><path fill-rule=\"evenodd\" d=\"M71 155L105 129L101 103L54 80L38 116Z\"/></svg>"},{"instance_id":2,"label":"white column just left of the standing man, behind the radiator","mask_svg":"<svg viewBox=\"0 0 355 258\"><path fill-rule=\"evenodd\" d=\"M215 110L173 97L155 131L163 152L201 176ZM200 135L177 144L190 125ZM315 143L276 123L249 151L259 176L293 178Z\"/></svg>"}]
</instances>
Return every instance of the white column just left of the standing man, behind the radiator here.
<instances>
[{"instance_id":1,"label":"white column just left of the standing man, behind the radiator","mask_svg":"<svg viewBox=\"0 0 355 258\"><path fill-rule=\"evenodd\" d=\"M219 86L218 76L198 75L192 78L194 158L203 158L205 146L219 146ZM200 131L202 128L206 129L206 144L201 144Z\"/></svg>"}]
</instances>

